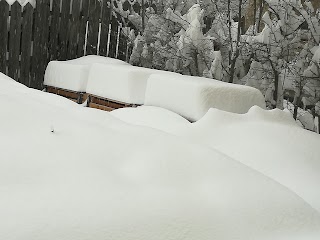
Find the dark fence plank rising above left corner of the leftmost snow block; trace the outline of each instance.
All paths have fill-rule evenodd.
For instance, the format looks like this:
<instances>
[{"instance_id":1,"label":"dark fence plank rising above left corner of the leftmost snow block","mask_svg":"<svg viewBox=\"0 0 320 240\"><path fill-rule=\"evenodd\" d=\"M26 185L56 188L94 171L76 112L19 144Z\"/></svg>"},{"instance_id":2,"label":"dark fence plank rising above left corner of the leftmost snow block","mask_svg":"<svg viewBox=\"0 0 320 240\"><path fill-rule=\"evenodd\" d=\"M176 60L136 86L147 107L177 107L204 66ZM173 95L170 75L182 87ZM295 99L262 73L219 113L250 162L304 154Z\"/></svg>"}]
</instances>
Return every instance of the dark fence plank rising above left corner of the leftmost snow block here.
<instances>
[{"instance_id":1,"label":"dark fence plank rising above left corner of the leftmost snow block","mask_svg":"<svg viewBox=\"0 0 320 240\"><path fill-rule=\"evenodd\" d=\"M49 33L49 59L57 60L59 53L60 1L52 1L51 24Z\"/></svg>"}]
</instances>

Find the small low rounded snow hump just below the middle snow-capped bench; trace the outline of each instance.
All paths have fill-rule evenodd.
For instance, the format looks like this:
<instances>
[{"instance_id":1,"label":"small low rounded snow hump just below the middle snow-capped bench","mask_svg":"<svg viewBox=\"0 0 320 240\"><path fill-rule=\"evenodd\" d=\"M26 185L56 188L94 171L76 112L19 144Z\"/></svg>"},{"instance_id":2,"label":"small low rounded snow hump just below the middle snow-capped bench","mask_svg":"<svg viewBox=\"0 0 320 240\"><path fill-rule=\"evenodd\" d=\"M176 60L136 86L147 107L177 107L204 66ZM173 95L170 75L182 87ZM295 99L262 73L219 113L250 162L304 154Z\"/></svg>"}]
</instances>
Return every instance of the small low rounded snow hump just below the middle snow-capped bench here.
<instances>
[{"instance_id":1,"label":"small low rounded snow hump just below the middle snow-capped bench","mask_svg":"<svg viewBox=\"0 0 320 240\"><path fill-rule=\"evenodd\" d=\"M188 120L174 112L152 106L121 108L112 111L110 114L130 124L147 126L169 133L176 127L190 124Z\"/></svg>"}]
</instances>

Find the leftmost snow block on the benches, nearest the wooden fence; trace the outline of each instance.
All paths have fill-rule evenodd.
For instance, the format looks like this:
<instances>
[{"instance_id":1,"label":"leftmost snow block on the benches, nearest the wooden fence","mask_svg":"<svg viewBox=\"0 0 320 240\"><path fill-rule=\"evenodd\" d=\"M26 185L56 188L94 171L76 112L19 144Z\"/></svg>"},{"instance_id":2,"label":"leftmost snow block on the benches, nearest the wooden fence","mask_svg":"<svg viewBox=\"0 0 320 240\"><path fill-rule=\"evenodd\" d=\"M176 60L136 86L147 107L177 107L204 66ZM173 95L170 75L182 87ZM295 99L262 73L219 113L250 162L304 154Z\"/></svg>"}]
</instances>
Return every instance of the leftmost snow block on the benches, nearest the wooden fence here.
<instances>
[{"instance_id":1,"label":"leftmost snow block on the benches, nearest the wooden fence","mask_svg":"<svg viewBox=\"0 0 320 240\"><path fill-rule=\"evenodd\" d=\"M94 63L130 66L118 59L94 55L68 61L51 61L46 69L44 85L86 92L89 70Z\"/></svg>"}]
</instances>

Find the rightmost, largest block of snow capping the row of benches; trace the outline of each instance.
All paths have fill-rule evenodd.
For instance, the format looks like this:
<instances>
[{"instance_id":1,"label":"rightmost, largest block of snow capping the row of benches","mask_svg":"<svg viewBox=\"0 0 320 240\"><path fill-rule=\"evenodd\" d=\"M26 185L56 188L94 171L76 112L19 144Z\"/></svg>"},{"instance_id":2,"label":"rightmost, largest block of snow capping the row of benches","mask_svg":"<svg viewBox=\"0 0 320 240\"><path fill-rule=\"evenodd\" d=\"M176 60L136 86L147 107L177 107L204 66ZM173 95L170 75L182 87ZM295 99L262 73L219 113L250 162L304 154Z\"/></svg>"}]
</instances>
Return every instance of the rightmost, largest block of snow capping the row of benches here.
<instances>
[{"instance_id":1,"label":"rightmost, largest block of snow capping the row of benches","mask_svg":"<svg viewBox=\"0 0 320 240\"><path fill-rule=\"evenodd\" d=\"M145 98L145 105L166 108L191 121L210 108L234 113L246 113L254 105L265 108L264 97L255 88L182 75L153 74Z\"/></svg>"}]
</instances>

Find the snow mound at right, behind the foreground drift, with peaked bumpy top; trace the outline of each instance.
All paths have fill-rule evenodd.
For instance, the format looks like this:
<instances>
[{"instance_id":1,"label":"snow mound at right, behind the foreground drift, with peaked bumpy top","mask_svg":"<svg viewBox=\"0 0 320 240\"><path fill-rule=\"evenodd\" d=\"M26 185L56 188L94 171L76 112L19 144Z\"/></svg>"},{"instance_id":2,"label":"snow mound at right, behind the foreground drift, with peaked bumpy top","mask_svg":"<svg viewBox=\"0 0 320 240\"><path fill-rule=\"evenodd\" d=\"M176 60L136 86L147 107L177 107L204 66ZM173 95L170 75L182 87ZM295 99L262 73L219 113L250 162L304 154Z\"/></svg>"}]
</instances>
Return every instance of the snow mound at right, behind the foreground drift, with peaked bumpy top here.
<instances>
[{"instance_id":1,"label":"snow mound at right, behind the foreground drift, with peaked bumpy top","mask_svg":"<svg viewBox=\"0 0 320 240\"><path fill-rule=\"evenodd\" d=\"M281 110L247 114L217 109L189 128L173 131L240 161L295 192L320 212L320 137Z\"/></svg>"}]
</instances>

